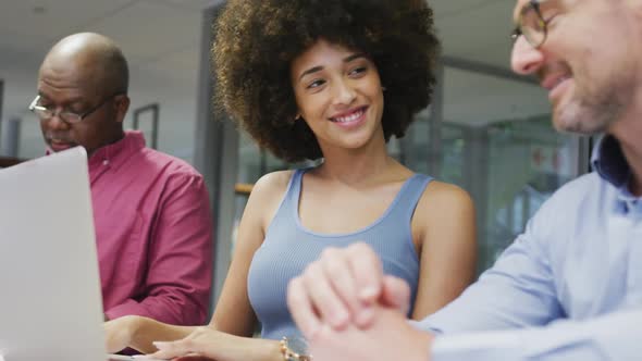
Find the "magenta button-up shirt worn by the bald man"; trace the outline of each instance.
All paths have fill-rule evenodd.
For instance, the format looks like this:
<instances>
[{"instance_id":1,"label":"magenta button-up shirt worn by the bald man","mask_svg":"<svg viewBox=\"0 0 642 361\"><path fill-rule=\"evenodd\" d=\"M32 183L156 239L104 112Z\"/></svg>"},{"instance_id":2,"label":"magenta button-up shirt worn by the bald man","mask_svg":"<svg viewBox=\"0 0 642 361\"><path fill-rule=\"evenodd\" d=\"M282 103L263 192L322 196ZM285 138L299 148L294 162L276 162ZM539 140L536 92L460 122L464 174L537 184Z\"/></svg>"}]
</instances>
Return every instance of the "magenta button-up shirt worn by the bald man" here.
<instances>
[{"instance_id":1,"label":"magenta button-up shirt worn by the bald man","mask_svg":"<svg viewBox=\"0 0 642 361\"><path fill-rule=\"evenodd\" d=\"M212 217L202 176L146 148L139 132L97 150L89 176L106 315L205 324Z\"/></svg>"}]
</instances>

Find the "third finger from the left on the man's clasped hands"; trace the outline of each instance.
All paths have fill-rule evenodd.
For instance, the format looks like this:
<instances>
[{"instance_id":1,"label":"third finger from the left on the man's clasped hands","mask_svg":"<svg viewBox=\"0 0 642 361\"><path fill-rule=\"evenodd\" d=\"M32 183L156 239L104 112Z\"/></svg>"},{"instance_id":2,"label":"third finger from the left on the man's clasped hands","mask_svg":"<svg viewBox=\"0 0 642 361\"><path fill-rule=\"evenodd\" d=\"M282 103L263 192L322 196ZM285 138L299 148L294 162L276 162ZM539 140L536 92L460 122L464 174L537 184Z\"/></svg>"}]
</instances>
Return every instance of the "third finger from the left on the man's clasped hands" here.
<instances>
[{"instance_id":1,"label":"third finger from the left on the man's clasped hands","mask_svg":"<svg viewBox=\"0 0 642 361\"><path fill-rule=\"evenodd\" d=\"M361 313L365 307L357 295L357 282L353 274L349 260L345 257L344 250L329 248L321 254L321 266L339 300L347 306L349 318Z\"/></svg>"}]
</instances>

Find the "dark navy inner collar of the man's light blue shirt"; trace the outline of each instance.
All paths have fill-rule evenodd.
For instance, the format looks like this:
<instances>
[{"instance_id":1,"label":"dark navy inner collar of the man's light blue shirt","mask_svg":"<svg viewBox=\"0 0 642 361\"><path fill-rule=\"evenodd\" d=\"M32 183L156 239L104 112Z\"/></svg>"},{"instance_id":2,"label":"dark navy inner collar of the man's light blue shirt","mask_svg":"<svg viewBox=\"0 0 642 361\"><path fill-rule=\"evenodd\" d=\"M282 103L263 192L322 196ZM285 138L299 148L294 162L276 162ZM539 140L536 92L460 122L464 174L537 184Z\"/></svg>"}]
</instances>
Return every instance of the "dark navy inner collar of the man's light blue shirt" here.
<instances>
[{"instance_id":1,"label":"dark navy inner collar of the man's light blue shirt","mask_svg":"<svg viewBox=\"0 0 642 361\"><path fill-rule=\"evenodd\" d=\"M593 148L591 165L600 176L618 189L628 188L631 170L619 141L612 135L603 136Z\"/></svg>"}]
</instances>

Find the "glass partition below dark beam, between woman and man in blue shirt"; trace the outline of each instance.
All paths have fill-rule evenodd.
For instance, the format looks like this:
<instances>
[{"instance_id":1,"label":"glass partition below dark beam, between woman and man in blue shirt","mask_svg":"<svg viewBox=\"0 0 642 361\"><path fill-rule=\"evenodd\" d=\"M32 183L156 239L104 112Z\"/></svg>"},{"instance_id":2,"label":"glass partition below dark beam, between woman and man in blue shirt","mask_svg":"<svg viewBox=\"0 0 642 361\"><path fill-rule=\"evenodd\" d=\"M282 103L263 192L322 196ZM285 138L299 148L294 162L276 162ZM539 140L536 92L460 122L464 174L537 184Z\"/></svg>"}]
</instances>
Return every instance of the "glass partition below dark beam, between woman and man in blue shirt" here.
<instances>
[{"instance_id":1,"label":"glass partition below dark beam, between woman and man in blue shirt","mask_svg":"<svg viewBox=\"0 0 642 361\"><path fill-rule=\"evenodd\" d=\"M441 119L420 113L400 140L409 153L399 159L470 192L481 272L588 160L577 137L553 129L546 96L535 84L446 66L442 85ZM434 149L431 132L439 132L434 158L428 153Z\"/></svg>"}]
</instances>

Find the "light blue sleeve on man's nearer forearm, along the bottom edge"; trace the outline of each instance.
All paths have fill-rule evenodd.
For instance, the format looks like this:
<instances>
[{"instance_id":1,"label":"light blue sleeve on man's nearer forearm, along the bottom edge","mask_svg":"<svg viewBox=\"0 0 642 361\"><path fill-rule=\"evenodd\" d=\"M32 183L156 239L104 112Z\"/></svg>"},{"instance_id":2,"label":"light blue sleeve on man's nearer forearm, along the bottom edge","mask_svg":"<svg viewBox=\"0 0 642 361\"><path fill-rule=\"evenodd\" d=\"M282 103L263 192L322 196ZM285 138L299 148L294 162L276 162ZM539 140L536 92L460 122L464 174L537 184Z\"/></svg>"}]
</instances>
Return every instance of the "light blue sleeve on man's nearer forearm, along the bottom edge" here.
<instances>
[{"instance_id":1,"label":"light blue sleeve on man's nearer forearm, along the bottom edge","mask_svg":"<svg viewBox=\"0 0 642 361\"><path fill-rule=\"evenodd\" d=\"M439 336L431 360L640 360L642 308L588 321L563 320L548 326Z\"/></svg>"}]
</instances>

